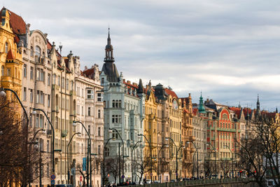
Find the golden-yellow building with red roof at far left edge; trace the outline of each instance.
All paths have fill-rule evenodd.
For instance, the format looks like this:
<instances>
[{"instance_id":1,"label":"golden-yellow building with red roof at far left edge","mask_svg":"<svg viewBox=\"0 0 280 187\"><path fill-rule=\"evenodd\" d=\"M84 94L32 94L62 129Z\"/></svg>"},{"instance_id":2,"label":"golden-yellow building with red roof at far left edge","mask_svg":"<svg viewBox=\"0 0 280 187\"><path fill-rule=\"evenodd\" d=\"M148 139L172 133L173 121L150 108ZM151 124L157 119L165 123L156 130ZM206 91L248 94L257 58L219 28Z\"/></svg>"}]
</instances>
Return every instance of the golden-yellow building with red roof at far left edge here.
<instances>
[{"instance_id":1,"label":"golden-yellow building with red roof at far left edge","mask_svg":"<svg viewBox=\"0 0 280 187\"><path fill-rule=\"evenodd\" d=\"M10 88L21 97L22 91L22 55L20 53L20 39L17 34L25 33L25 22L22 18L6 8L1 10L0 25L0 63L1 88ZM17 24L13 24L17 22ZM17 45L19 44L19 45ZM10 94L7 94L10 98Z\"/></svg>"}]
</instances>

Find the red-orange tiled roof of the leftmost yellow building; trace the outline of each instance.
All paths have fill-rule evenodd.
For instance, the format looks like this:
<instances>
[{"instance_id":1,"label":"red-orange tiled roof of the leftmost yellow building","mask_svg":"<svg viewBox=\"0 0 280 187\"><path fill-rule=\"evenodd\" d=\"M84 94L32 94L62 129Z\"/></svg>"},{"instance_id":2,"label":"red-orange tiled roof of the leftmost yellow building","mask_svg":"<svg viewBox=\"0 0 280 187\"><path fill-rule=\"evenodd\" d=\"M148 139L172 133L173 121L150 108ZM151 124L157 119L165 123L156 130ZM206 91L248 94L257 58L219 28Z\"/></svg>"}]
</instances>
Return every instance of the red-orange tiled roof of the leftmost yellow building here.
<instances>
[{"instance_id":1,"label":"red-orange tiled roof of the leftmost yellow building","mask_svg":"<svg viewBox=\"0 0 280 187\"><path fill-rule=\"evenodd\" d=\"M0 14L5 9L6 8L3 7L0 11ZM6 10L8 10L8 9L6 9ZM8 13L10 14L10 27L13 29L13 33L14 34L25 34L26 33L26 24L25 24L25 21L22 19L22 17L9 10L8 10Z\"/></svg>"}]
</instances>

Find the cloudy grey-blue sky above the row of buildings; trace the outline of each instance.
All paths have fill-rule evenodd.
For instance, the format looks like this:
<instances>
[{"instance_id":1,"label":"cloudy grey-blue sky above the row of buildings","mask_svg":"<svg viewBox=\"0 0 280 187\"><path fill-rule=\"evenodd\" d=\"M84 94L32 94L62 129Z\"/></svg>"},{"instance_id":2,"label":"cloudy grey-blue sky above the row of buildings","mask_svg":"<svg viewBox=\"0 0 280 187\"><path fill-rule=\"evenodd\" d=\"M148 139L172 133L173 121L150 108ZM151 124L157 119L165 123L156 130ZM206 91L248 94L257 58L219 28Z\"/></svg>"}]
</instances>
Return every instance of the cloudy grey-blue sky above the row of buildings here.
<instances>
[{"instance_id":1,"label":"cloudy grey-blue sky above the row of buildings","mask_svg":"<svg viewBox=\"0 0 280 187\"><path fill-rule=\"evenodd\" d=\"M126 80L161 83L179 97L229 106L280 107L279 0L2 0L48 33L81 67L104 63L111 43Z\"/></svg>"}]
</instances>

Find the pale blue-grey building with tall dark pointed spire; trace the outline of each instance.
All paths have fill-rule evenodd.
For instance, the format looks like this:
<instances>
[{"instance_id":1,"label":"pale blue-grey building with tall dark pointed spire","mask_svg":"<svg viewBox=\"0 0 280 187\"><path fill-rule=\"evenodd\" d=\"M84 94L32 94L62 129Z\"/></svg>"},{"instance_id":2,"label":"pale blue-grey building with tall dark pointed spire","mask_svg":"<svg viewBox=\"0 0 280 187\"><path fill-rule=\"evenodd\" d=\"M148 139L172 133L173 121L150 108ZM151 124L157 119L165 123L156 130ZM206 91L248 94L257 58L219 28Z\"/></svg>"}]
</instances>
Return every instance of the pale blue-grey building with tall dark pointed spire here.
<instances>
[{"instance_id":1,"label":"pale blue-grey building with tall dark pointed spire","mask_svg":"<svg viewBox=\"0 0 280 187\"><path fill-rule=\"evenodd\" d=\"M104 86L104 144L108 141L104 151L106 151L106 157L118 160L119 171L109 171L109 181L120 183L132 180L132 162L127 159L127 156L132 155L133 145L142 139L138 134L144 134L145 97L141 81L137 85L123 80L123 74L118 74L114 61L109 33L104 65L100 74L102 86ZM114 139L110 139L111 137ZM137 146L134 153L138 153L139 162L141 162L143 147ZM135 180L138 180L138 176Z\"/></svg>"}]
</instances>

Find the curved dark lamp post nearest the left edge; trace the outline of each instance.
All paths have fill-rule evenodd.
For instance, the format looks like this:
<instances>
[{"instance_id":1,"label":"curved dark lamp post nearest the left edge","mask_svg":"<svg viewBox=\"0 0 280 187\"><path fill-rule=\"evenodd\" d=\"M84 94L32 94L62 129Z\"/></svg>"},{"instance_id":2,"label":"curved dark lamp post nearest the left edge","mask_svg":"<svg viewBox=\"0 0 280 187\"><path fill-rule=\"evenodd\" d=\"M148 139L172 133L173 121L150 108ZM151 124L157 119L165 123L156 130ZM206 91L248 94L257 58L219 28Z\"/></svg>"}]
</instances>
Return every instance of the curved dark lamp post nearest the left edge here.
<instances>
[{"instance_id":1,"label":"curved dark lamp post nearest the left edge","mask_svg":"<svg viewBox=\"0 0 280 187\"><path fill-rule=\"evenodd\" d=\"M14 90L11 90L9 88L0 88L1 92L0 92L0 96L1 97L6 97L6 92L5 91L10 91L10 92L13 92L13 94L15 95L15 97L17 97L18 99L18 102L20 102L20 106L22 106L22 109L25 113L25 118L26 118L26 121L27 121L27 124L26 124L26 130L25 130L25 133L26 133L26 136L25 136L25 153L26 153L26 159L28 158L28 153L27 153L27 143L28 143L28 125L29 125L29 118L28 118L28 115L27 115L27 111L25 109L25 106L23 106L22 102L20 101L20 97L18 97L18 94L17 92L15 92ZM27 167L25 167L25 173L27 173ZM25 179L25 175L23 175L23 186L27 186L27 179Z\"/></svg>"}]
</instances>

